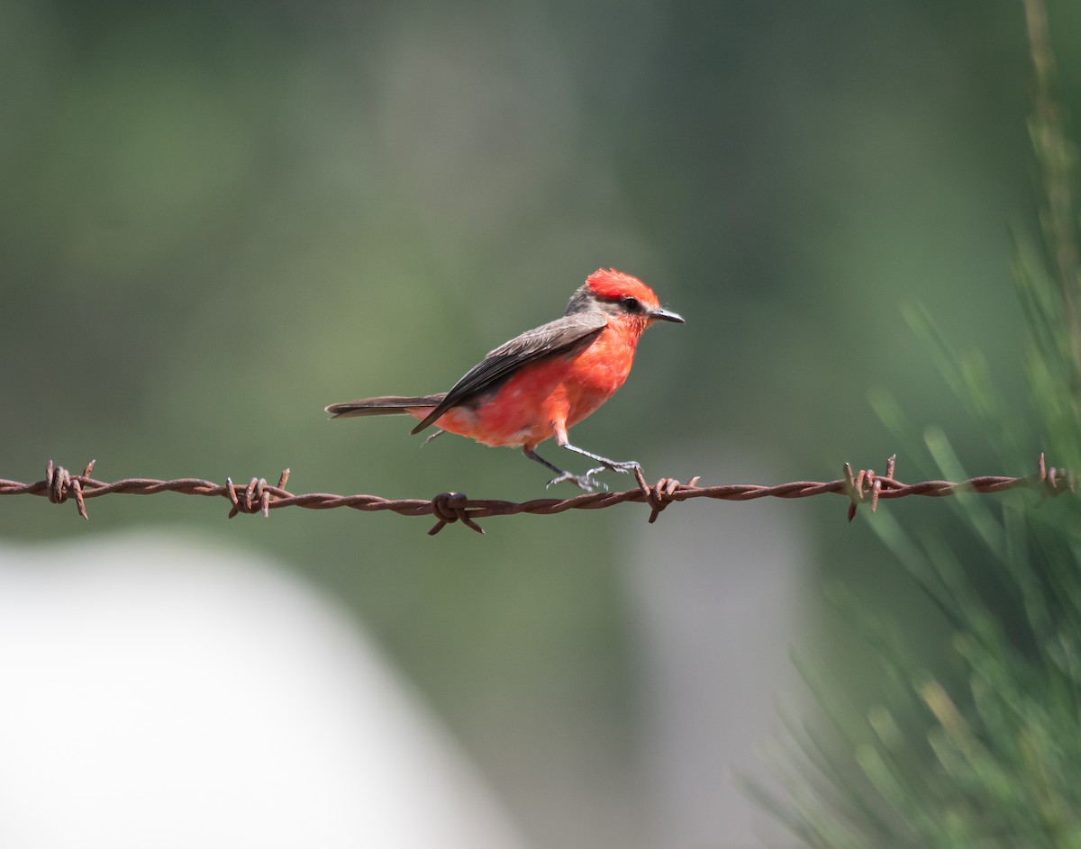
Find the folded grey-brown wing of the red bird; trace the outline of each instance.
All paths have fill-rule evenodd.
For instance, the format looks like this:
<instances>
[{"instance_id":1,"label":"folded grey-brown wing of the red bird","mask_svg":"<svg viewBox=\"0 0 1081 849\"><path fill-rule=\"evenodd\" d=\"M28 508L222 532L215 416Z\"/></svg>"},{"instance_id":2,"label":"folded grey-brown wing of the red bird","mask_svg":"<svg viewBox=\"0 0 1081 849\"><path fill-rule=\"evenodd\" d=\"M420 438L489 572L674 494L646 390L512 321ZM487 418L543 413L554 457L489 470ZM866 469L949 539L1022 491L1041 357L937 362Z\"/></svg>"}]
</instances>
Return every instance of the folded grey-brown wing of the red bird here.
<instances>
[{"instance_id":1,"label":"folded grey-brown wing of the red bird","mask_svg":"<svg viewBox=\"0 0 1081 849\"><path fill-rule=\"evenodd\" d=\"M439 405L417 425L411 433L419 433L451 407L481 394L510 377L529 363L547 360L586 345L608 324L603 312L575 312L526 331L509 342L504 342L451 387Z\"/></svg>"}]
</instances>

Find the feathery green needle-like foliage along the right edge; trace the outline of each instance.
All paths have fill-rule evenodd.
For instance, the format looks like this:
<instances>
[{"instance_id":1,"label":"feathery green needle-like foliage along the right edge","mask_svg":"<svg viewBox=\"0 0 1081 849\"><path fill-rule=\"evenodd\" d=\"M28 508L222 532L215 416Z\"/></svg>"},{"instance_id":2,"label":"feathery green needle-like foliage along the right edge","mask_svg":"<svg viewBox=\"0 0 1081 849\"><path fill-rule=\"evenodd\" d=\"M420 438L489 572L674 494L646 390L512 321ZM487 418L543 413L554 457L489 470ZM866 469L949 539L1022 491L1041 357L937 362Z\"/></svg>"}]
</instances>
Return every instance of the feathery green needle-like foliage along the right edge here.
<instances>
[{"instance_id":1,"label":"feathery green needle-like foliage along the right edge","mask_svg":"<svg viewBox=\"0 0 1081 849\"><path fill-rule=\"evenodd\" d=\"M1030 122L1043 180L1043 251L1015 239L1031 409L1013 409L979 353L959 354L920 308L906 318L987 444L1009 463L1035 452L1081 468L1081 300L1076 152L1052 96L1044 10L1026 3L1036 67ZM946 433L913 428L886 393L871 399L911 450L950 480L969 476ZM1031 456L1026 456L1030 453ZM950 528L903 527L881 511L873 529L953 629L946 669L931 671L905 634L832 591L881 666L877 703L842 704L820 674L804 676L830 718L790 725L798 752L788 799L751 792L815 847L1081 847L1081 511L1066 496L948 499ZM942 665L940 663L937 665ZM843 753L843 756L840 754ZM795 769L795 773L792 770Z\"/></svg>"}]
</instances>

